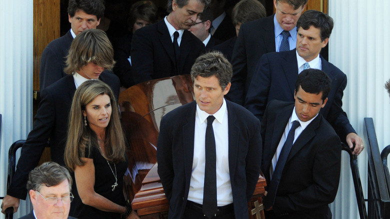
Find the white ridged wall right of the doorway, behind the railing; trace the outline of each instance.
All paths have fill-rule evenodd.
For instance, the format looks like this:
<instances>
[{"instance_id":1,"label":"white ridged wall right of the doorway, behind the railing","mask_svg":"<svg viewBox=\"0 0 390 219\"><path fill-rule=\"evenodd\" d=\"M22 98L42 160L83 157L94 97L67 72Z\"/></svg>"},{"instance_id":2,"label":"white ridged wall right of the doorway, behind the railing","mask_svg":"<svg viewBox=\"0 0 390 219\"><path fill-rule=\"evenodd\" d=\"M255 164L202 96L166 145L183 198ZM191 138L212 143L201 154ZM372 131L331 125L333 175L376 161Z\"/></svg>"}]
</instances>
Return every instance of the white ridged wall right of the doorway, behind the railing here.
<instances>
[{"instance_id":1,"label":"white ridged wall right of the doorway, behind the railing","mask_svg":"<svg viewBox=\"0 0 390 219\"><path fill-rule=\"evenodd\" d=\"M363 118L372 117L379 150L390 144L390 103L383 85L390 78L388 0L329 0L334 28L329 40L329 61L348 78L343 109L359 136ZM386 67L387 65L387 67ZM366 139L364 139L366 141ZM366 144L366 143L365 143ZM343 152L345 153L345 152ZM367 197L367 153L358 156L360 177ZM333 218L359 218L348 157L343 154L338 194L332 204Z\"/></svg>"}]
</instances>

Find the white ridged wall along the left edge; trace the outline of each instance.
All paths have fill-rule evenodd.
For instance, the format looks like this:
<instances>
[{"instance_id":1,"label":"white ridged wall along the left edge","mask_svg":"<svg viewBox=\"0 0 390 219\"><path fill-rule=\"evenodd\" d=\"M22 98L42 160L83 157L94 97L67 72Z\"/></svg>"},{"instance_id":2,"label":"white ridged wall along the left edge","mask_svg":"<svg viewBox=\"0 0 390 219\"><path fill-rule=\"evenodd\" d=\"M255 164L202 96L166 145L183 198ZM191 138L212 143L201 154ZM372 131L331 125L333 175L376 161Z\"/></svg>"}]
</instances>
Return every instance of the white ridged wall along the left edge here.
<instances>
[{"instance_id":1,"label":"white ridged wall along the left edge","mask_svg":"<svg viewBox=\"0 0 390 219\"><path fill-rule=\"evenodd\" d=\"M32 127L33 3L0 0L0 5L0 196L4 196L8 148L13 141L25 139ZM20 205L14 218L30 211L29 202Z\"/></svg>"}]
</instances>

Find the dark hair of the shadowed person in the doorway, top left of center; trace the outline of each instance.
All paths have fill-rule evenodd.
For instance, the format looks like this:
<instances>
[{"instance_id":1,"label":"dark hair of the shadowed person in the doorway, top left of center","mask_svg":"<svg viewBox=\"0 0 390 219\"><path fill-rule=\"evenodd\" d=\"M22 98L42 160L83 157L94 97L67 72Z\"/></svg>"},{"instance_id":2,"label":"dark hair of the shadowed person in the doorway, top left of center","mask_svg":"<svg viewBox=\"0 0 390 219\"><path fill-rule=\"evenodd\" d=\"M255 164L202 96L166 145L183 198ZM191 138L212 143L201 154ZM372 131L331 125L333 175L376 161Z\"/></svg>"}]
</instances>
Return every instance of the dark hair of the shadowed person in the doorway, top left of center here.
<instances>
[{"instance_id":1,"label":"dark hair of the shadowed person in the doorway, top left of center","mask_svg":"<svg viewBox=\"0 0 390 219\"><path fill-rule=\"evenodd\" d=\"M131 5L129 24L132 26L137 18L150 23L157 21L157 6L150 0L140 0Z\"/></svg>"}]
</instances>

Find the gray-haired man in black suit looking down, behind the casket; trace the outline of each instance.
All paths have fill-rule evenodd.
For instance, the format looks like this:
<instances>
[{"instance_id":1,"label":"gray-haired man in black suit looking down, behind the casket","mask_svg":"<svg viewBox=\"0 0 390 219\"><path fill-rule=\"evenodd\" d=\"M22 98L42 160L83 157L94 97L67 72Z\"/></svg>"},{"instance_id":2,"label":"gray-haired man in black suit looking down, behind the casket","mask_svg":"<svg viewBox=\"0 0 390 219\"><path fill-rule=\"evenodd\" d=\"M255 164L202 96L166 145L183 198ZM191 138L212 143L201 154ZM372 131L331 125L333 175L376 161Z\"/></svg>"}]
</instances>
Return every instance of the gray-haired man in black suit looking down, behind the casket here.
<instances>
[{"instance_id":1,"label":"gray-haired man in black suit looking down, behind the casket","mask_svg":"<svg viewBox=\"0 0 390 219\"><path fill-rule=\"evenodd\" d=\"M169 0L169 14L164 19L134 32L130 54L135 83L189 74L204 44L188 29L208 3L209 0Z\"/></svg>"}]
</instances>

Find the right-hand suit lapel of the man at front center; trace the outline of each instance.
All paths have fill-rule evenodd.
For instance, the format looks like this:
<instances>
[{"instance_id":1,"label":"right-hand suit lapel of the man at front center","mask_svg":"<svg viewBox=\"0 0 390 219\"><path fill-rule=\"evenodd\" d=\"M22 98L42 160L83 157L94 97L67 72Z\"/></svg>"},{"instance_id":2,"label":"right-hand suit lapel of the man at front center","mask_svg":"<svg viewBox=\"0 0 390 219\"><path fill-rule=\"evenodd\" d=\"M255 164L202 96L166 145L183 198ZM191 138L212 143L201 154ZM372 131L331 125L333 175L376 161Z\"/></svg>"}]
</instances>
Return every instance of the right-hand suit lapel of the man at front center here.
<instances>
[{"instance_id":1,"label":"right-hand suit lapel of the man at front center","mask_svg":"<svg viewBox=\"0 0 390 219\"><path fill-rule=\"evenodd\" d=\"M230 178L234 178L235 174L235 165L237 163L237 154L238 154L238 142L239 138L237 137L237 133L239 133L239 127L237 126L237 117L235 112L230 106L230 102L226 101L227 107L227 126L228 126L228 156L229 156L229 173Z\"/></svg>"}]
</instances>

